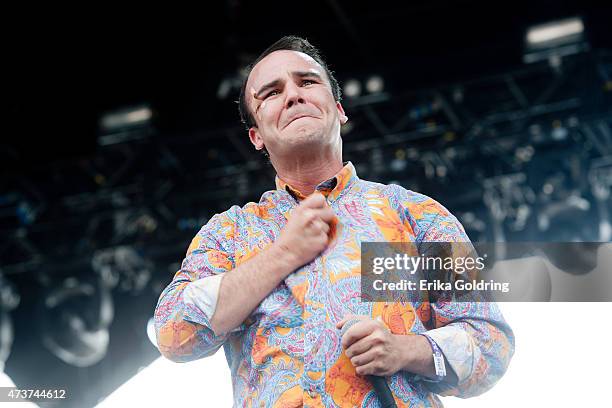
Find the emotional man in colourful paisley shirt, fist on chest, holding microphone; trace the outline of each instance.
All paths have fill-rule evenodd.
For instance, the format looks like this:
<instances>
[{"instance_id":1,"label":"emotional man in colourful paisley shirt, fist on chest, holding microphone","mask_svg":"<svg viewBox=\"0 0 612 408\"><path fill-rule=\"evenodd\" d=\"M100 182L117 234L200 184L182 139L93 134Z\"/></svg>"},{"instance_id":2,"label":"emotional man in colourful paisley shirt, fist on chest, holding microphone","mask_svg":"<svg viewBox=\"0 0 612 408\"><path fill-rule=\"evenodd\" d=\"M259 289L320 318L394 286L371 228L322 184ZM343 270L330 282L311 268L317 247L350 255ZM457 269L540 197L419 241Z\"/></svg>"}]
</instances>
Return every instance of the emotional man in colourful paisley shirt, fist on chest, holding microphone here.
<instances>
[{"instance_id":1,"label":"emotional man in colourful paisley shirt, fist on chest, holding microphone","mask_svg":"<svg viewBox=\"0 0 612 408\"><path fill-rule=\"evenodd\" d=\"M196 235L157 305L161 353L184 362L223 345L235 406L379 406L365 375L388 377L403 407L489 389L514 351L494 303L361 301L361 242L469 239L433 199L361 180L343 164L348 118L317 50L284 37L264 51L240 111L277 188Z\"/></svg>"}]
</instances>

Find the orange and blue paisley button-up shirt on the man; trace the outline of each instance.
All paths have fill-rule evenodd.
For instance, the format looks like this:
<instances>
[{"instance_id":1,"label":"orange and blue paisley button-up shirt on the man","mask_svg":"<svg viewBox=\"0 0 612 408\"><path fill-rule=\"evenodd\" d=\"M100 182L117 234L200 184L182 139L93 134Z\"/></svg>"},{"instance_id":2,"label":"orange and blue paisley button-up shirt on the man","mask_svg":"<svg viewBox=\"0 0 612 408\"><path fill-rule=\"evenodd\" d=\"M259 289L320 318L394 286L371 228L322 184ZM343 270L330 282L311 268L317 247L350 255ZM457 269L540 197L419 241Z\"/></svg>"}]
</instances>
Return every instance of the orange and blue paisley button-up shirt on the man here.
<instances>
[{"instance_id":1,"label":"orange and blue paisley button-up shirt on the man","mask_svg":"<svg viewBox=\"0 0 612 408\"><path fill-rule=\"evenodd\" d=\"M186 362L223 346L236 407L378 407L335 327L345 315L356 314L381 320L394 334L427 332L457 375L451 384L397 372L388 384L398 407L442 406L436 394L475 396L499 380L514 353L514 335L495 303L361 300L361 242L469 239L435 200L361 180L350 162L316 188L337 217L327 249L289 274L239 327L216 335L210 319L223 273L274 242L305 198L278 177L276 187L259 203L216 214L191 242L155 310L165 357Z\"/></svg>"}]
</instances>

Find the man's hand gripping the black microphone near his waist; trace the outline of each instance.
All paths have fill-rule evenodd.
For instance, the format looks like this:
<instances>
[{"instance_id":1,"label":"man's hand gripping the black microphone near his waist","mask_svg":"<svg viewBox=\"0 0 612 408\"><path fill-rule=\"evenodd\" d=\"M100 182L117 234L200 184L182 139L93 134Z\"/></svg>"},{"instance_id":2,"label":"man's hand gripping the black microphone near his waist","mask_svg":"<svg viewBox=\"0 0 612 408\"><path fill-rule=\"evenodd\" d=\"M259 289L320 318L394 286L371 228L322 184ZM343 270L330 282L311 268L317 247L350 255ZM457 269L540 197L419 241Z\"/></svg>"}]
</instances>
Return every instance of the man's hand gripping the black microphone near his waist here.
<instances>
[{"instance_id":1,"label":"man's hand gripping the black microphone near his waist","mask_svg":"<svg viewBox=\"0 0 612 408\"><path fill-rule=\"evenodd\" d=\"M380 320L347 315L336 324L342 329L349 320L358 319L342 336L342 347L359 375L386 377L404 368L404 344L407 336L391 333Z\"/></svg>"}]
</instances>

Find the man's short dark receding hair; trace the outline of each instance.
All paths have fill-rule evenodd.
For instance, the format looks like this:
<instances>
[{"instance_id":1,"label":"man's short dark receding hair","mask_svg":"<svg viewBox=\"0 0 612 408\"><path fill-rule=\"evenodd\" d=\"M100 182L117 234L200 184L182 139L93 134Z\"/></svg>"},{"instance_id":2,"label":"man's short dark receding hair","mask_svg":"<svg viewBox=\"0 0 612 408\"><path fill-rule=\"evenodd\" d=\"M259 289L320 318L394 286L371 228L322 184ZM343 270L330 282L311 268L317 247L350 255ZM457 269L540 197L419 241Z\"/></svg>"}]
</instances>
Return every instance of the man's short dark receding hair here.
<instances>
[{"instance_id":1,"label":"man's short dark receding hair","mask_svg":"<svg viewBox=\"0 0 612 408\"><path fill-rule=\"evenodd\" d=\"M259 61L264 59L269 54L272 54L274 51L281 50L303 52L304 54L310 56L312 59L317 61L319 65L323 67L325 73L327 74L327 78L329 79L329 84L331 85L334 99L336 101L340 101L342 99L342 91L340 90L340 85L334 77L333 72L329 69L329 67L321 57L321 53L319 52L319 50L314 45L309 43L308 40L305 38L297 37L294 35L287 35L269 46L264 52L259 55L259 57L257 57L257 59L255 59L255 61L251 63L251 65L247 67L246 76L244 77L242 81L242 86L240 87L240 99L238 99L238 112L240 113L240 120L246 125L247 129L257 126L255 118L249 111L249 107L246 103L246 83L249 79L249 75L251 75L253 67L257 65Z\"/></svg>"}]
</instances>

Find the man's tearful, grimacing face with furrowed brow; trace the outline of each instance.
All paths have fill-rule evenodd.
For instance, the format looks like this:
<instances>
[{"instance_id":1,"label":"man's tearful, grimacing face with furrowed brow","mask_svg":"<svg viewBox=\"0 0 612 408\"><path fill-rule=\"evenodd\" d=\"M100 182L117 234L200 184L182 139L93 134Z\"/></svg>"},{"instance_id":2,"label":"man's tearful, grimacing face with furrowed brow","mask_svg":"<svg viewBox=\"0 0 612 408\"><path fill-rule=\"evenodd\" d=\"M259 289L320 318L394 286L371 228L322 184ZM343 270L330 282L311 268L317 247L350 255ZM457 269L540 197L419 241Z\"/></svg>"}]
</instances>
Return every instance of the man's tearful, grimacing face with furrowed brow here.
<instances>
[{"instance_id":1,"label":"man's tearful, grimacing face with furrowed brow","mask_svg":"<svg viewBox=\"0 0 612 408\"><path fill-rule=\"evenodd\" d=\"M347 118L332 94L325 70L297 51L275 51L251 71L247 106L256 127L249 129L257 149L272 159L340 144L340 125Z\"/></svg>"}]
</instances>

